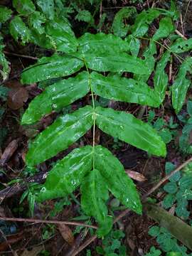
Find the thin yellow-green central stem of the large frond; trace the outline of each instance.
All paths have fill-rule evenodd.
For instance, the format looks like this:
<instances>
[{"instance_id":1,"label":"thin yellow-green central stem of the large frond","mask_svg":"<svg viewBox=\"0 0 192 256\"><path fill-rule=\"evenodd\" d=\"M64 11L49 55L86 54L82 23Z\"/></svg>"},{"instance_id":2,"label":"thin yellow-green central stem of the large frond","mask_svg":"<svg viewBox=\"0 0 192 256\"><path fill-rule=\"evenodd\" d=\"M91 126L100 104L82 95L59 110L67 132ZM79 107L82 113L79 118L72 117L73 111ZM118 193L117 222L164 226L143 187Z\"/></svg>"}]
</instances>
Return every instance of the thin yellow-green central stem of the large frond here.
<instances>
[{"instance_id":1,"label":"thin yellow-green central stem of the large frond","mask_svg":"<svg viewBox=\"0 0 192 256\"><path fill-rule=\"evenodd\" d=\"M92 97L92 108L93 108L93 129L92 129L92 152L93 152L93 156L92 156L92 169L95 169L95 100L94 100L94 92L92 90L92 83L91 83L91 75L90 75L90 71L87 67L87 63L85 61L85 59L83 60L85 63L85 68L87 70L87 73L89 73L89 86L90 86L90 91L91 91L91 97Z\"/></svg>"}]
</instances>

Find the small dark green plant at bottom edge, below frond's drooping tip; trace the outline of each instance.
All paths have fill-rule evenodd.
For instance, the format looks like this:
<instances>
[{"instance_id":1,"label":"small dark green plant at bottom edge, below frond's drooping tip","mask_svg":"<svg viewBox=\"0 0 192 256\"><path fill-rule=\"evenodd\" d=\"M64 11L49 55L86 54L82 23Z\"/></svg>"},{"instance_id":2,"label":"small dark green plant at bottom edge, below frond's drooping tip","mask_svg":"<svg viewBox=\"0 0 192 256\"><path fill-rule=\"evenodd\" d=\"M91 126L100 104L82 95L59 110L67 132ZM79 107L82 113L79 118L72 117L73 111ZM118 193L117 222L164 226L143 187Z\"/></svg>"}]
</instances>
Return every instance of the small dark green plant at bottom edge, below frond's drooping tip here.
<instances>
[{"instance_id":1,"label":"small dark green plant at bottom edge, below frond's drooping tip","mask_svg":"<svg viewBox=\"0 0 192 256\"><path fill-rule=\"evenodd\" d=\"M122 230L111 230L102 240L102 246L96 247L97 254L105 256L126 256L126 247L121 243L122 238L124 238Z\"/></svg>"}]
</instances>

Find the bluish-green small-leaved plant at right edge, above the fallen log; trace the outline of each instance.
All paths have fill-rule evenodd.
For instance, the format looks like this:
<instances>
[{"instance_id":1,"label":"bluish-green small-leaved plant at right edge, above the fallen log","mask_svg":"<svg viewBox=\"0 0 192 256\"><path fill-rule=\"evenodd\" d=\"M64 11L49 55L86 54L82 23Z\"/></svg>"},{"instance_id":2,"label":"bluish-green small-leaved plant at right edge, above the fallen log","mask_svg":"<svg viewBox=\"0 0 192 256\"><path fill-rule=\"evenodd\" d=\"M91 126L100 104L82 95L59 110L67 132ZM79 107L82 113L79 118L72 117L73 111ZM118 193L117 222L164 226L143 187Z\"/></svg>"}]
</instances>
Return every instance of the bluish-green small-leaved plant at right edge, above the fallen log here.
<instances>
[{"instance_id":1,"label":"bluish-green small-leaved plant at right edge, above the fallen log","mask_svg":"<svg viewBox=\"0 0 192 256\"><path fill-rule=\"evenodd\" d=\"M170 162L166 163L166 174L174 171L176 167ZM163 206L166 209L176 204L176 215L187 219L190 212L187 210L188 201L192 200L192 176L189 172L177 172L169 178L169 182L164 186L164 191L168 193L164 197Z\"/></svg>"}]
</instances>

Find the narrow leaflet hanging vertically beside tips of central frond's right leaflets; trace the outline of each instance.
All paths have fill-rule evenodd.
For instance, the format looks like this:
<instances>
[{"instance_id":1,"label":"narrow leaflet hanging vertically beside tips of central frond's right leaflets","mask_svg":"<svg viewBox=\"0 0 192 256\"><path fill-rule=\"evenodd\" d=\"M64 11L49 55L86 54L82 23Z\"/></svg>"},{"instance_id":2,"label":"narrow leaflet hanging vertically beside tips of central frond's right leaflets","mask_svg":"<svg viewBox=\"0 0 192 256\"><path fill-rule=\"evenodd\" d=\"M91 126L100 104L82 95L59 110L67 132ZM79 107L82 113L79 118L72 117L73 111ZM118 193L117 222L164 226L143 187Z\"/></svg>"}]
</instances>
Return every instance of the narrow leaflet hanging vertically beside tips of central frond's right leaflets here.
<instances>
[{"instance_id":1,"label":"narrow leaflet hanging vertically beside tips of central frond's right leaflets","mask_svg":"<svg viewBox=\"0 0 192 256\"><path fill-rule=\"evenodd\" d=\"M170 52L166 51L161 57L161 60L156 65L156 70L154 73L154 90L159 93L159 105L163 102L166 87L168 84L168 75L165 73L166 64L170 60Z\"/></svg>"}]
</instances>

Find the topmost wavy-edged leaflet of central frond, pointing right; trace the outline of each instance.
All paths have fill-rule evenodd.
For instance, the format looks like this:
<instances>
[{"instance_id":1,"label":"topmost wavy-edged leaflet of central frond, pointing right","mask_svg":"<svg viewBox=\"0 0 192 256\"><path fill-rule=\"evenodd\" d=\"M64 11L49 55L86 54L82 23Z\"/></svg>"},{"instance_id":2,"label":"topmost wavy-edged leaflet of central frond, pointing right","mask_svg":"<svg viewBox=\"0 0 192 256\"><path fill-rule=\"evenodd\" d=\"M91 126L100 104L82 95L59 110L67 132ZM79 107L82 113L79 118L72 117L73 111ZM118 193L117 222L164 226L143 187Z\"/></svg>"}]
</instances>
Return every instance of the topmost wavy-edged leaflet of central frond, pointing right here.
<instances>
[{"instance_id":1,"label":"topmost wavy-edged leaflet of central frond, pointing right","mask_svg":"<svg viewBox=\"0 0 192 256\"><path fill-rule=\"evenodd\" d=\"M80 53L87 53L90 55L114 55L114 53L129 51L129 44L112 34L105 33L85 33L78 38Z\"/></svg>"}]
</instances>

